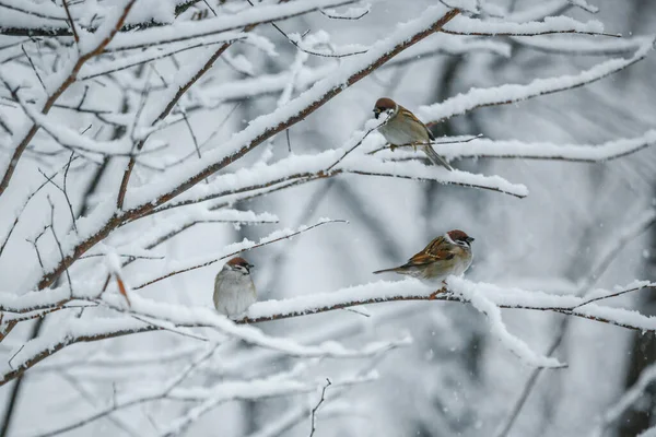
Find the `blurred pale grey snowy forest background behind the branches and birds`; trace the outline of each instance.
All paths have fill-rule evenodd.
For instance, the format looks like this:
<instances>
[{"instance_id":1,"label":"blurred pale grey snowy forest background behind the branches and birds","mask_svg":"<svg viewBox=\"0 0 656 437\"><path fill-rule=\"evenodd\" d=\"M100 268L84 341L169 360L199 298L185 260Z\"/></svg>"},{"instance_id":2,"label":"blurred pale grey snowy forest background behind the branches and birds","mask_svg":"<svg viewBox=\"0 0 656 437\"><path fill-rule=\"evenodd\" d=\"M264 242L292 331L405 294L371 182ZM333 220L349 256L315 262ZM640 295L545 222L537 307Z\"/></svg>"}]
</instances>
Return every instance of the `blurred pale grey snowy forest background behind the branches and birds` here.
<instances>
[{"instance_id":1,"label":"blurred pale grey snowy forest background behind the branches and birds","mask_svg":"<svg viewBox=\"0 0 656 437\"><path fill-rule=\"evenodd\" d=\"M70 0L69 3L74 16L92 23L93 9L107 8L108 2ZM183 2L141 0L137 1L141 12L137 12L145 14L150 8L150 12L159 11L162 20L167 21L177 3ZM371 3L371 11L359 20L336 20L312 12L277 23L288 34L309 31L305 38L321 38L324 36L316 33L326 32L335 50L358 51L355 45L371 46L387 38L399 23L420 17L426 8L437 2L376 0ZM546 15L562 14L582 22L597 20L604 24L606 33L621 33L625 38L654 32L654 1L595 0L594 4L599 8L596 14L571 3L577 1L484 2L493 12L530 11L524 21L541 21ZM45 15L55 13L54 10L65 13L60 0L0 0L0 31L12 26L19 28L34 16L17 12L21 7L31 11L44 8ZM207 4L200 1L176 20L197 19L195 15L202 11L207 16L199 23L212 20L209 7L219 15L230 15L249 5L245 1L208 0ZM344 12L351 7L338 11ZM352 14L355 12L351 11ZM488 20L504 21L489 16ZM154 167L173 164L176 156L196 156L195 141L199 144L208 141L201 152L221 150L222 144L249 121L277 108L283 91L280 83L284 86L296 81L296 86L290 91L292 96L297 96L314 82L312 72L349 61L349 58L303 54L270 24L261 24L253 33L273 43L278 55L267 54L261 47L265 43L259 46L234 44L226 50L180 101L179 108L188 113L187 120L172 123L151 135L149 142L167 144L167 152L154 154L150 161L144 155L145 164L136 167L131 184L137 186L159 177ZM432 35L420 42L409 50L422 50L422 56L408 57L407 61L374 71L293 125L289 137L279 133L271 143L265 142L235 163L235 168L248 167L258 160L276 162L284 158L290 153L289 147L294 154L339 147L354 131L364 129L364 122L372 117L373 104L380 96L393 97L421 116L420 108L466 93L471 87L526 84L538 78L577 74L613 57L630 58L636 47L616 50L608 47L614 42L621 43L616 38L559 34L552 37L480 37L477 40L487 42L488 46L481 43L479 47L461 50L450 47L448 50L449 47L436 46L446 40L440 39L445 36ZM19 40L24 43L3 48ZM30 54L37 70L45 71L57 62L52 59L54 54L71 42L70 36L39 36L33 40L25 36L0 36L0 62L3 66L20 63L24 74L31 76L31 61L23 50ZM595 47L595 44L599 46L597 51L581 49ZM318 47L330 50L328 46ZM183 51L174 59L150 62L149 66L154 68L137 66L112 76L75 83L59 103L75 107L82 95L87 94L85 102L90 107L114 108L113 114L96 117L60 108L52 111L50 118L79 132L91 125L89 135L110 141L120 137L125 129L120 127L121 111L130 114L129 122L133 122L134 110L143 99L160 98L157 93L162 94L162 91L157 88L168 86L176 70L198 63L199 57L214 49L215 46ZM290 68L294 69L298 62L303 62L302 69L296 78L290 79ZM482 134L492 140L555 144L601 144L641 137L655 126L655 68L656 57L649 54L646 59L595 83L526 102L480 108L434 125L432 129L436 137ZM16 71L17 68L7 68L2 73ZM20 82L23 79L12 80ZM38 82L34 83L39 86ZM143 90L150 94L147 96ZM0 115L10 121L16 114L22 115L20 107L12 106L11 99L7 88L0 91ZM424 110L427 114L429 109ZM181 109L177 114L178 120L179 114ZM176 116L175 111L173 116ZM127 129L131 127L128 125ZM371 141L382 143L378 133L371 137ZM0 144L4 161L11 142L2 130L0 139L3 140ZM70 151L57 154L55 152L61 149L52 144L51 138L40 132L32 142L34 149L28 147L23 156L0 200L3 234L14 220L25 187L45 181L39 169L50 175L67 164ZM38 153L39 147L42 153ZM656 227L648 226L649 214L656 208L654 147L606 163L481 157L456 160L452 164L461 170L499 175L511 182L523 184L529 194L518 199L440 181L341 175L255 199L236 200L232 208L269 212L278 216L279 223L197 224L157 248L163 259L139 260L127 267L124 274L134 285L142 279L174 269L178 260L211 256L223 246L244 238L257 241L279 228L296 228L314 224L320 217L331 217L350 223L325 225L244 255L256 265L254 275L260 300L326 293L378 281L380 277L374 276L372 271L403 262L432 238L452 228L464 229L476 238L475 261L466 274L475 282L574 295L582 288L612 290L636 279L656 279ZM68 176L73 214L86 215L103 200L115 198L125 165L126 158L121 156L73 162ZM222 172L235 168L229 166ZM62 182L62 175L58 177L58 184ZM45 187L21 215L0 259L2 292L16 295L26 292L24 284L31 281L30 275L38 267L34 247L26 239L33 239L50 223L46 194L56 206L55 223L59 235L66 235L71 228L71 213L61 190L50 185ZM134 238L139 233L165 225L166 220L166 215L145 218L141 225L130 225L141 227L132 228L131 233L113 234L114 239L105 243L118 245L121 238ZM641 223L646 224L642 226ZM628 236L625 241L621 240L624 236ZM48 241L44 238L43 245L43 251L57 250L49 237ZM612 256L605 258L608 248ZM96 247L94 252L104 249ZM604 259L609 261L608 268L597 269ZM98 262L97 265L103 265ZM213 276L222 262L132 293L157 302L211 307ZM74 273L73 269L71 274ZM396 280L394 276L383 279ZM62 277L57 285L63 284ZM652 315L656 310L655 299L652 292L641 291L609 299L606 304ZM362 376L374 368L379 375L373 381L326 390L327 400L316 417L316 436L635 436L656 424L652 415L656 409L656 386L651 383L656 371L649 367L656 361L653 332L632 331L586 319L570 319L563 328L562 321L566 317L563 315L504 309L502 315L508 331L540 354L547 354L563 332L554 356L566 362L569 367L536 373L490 335L484 316L470 305L395 302L355 310L363 314L336 310L261 322L257 328L268 335L296 339L301 343L335 340L358 349L376 339L409 334L412 344L360 359L309 359L305 363L306 369L296 368L298 361L284 354L262 352L239 342L223 344L221 347L225 350L221 354L204 362L190 376L197 386L210 387L222 381L298 371L319 383L308 393L271 399L237 395L237 399L199 414L180 434L307 436L311 410L321 392L320 381L327 377L339 380L340 375ZM27 339L47 333L67 317L78 317L78 310L68 311L70 314L47 316L39 322L19 323L0 343L2 362L16 354ZM81 319L85 317L91 316L85 312ZM93 323L93 319L90 322ZM194 332L204 334L206 330L197 328ZM69 346L25 371L22 379L13 379L0 387L0 436L42 435L39 433L74 423L77 417L112 405L117 395L129 393L134 387L161 388L164 380L179 373L203 351L201 346L197 340L172 332L139 333ZM168 359L167 355L172 357ZM649 371L655 375L649 376ZM643 376L644 387L617 417L605 423L608 412L641 375L646 375ZM537 379L527 390L531 376ZM518 402L523 393L527 398ZM165 435L168 423L194 405L194 402L163 399L140 402L66 435ZM282 426L278 432L269 429L284 418L289 418L289 426ZM599 426L604 432L595 434Z\"/></svg>"}]
</instances>

